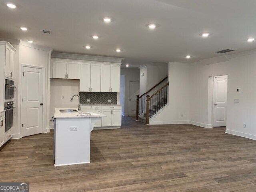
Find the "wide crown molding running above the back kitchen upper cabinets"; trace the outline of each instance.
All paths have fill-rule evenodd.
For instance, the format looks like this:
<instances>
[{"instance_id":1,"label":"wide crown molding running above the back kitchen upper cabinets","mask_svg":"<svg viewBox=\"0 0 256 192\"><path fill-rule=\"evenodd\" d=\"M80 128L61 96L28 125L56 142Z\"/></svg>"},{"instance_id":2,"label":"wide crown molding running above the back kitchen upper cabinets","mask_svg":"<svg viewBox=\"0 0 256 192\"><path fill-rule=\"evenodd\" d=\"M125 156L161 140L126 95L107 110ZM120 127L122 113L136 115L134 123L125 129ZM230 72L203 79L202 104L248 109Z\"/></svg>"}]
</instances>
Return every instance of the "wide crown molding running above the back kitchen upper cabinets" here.
<instances>
[{"instance_id":1,"label":"wide crown molding running above the back kitchen upper cabinets","mask_svg":"<svg viewBox=\"0 0 256 192\"><path fill-rule=\"evenodd\" d=\"M52 58L58 59L71 59L71 60L83 60L83 61L95 61L95 62L108 62L121 64L123 58L104 57L104 56L92 56L92 55L80 55L69 53L52 53Z\"/></svg>"}]
</instances>

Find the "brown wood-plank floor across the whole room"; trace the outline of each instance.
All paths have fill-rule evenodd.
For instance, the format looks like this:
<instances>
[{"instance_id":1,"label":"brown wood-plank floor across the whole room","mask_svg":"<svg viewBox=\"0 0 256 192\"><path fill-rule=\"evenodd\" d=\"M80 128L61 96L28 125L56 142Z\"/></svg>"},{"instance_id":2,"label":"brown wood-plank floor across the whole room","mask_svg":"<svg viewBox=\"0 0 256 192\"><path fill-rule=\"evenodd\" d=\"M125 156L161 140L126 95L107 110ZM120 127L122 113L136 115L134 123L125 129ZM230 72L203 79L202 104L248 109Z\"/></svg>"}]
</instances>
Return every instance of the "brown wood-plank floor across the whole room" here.
<instances>
[{"instance_id":1,"label":"brown wood-plank floor across the whole room","mask_svg":"<svg viewBox=\"0 0 256 192\"><path fill-rule=\"evenodd\" d=\"M10 140L0 182L29 182L30 192L256 191L256 141L225 128L122 124L92 131L90 164L54 167L52 132Z\"/></svg>"}]
</instances>

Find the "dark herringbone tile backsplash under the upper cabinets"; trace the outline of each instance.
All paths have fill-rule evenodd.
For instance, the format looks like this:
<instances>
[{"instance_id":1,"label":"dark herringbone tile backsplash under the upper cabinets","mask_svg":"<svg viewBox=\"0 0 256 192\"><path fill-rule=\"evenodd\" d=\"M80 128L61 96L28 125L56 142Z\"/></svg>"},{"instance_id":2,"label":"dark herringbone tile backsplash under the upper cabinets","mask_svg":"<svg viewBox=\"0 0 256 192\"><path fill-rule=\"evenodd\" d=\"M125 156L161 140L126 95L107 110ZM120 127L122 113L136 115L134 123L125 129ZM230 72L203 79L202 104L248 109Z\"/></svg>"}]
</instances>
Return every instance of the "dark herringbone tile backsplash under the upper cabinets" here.
<instances>
[{"instance_id":1,"label":"dark herringbone tile backsplash under the upper cabinets","mask_svg":"<svg viewBox=\"0 0 256 192\"><path fill-rule=\"evenodd\" d=\"M116 104L117 93L109 92L79 92L82 104ZM90 102L87 100L90 99ZM111 100L111 102L108 102Z\"/></svg>"}]
</instances>

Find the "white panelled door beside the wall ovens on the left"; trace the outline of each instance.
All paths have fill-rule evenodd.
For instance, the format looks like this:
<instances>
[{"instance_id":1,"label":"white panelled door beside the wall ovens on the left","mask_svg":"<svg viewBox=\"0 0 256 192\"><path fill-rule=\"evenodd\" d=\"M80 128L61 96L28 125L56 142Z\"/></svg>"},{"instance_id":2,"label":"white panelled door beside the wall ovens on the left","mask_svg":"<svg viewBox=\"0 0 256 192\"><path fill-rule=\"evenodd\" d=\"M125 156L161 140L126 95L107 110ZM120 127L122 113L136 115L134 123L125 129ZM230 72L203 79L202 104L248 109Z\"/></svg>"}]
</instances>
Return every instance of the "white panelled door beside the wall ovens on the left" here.
<instances>
[{"instance_id":1,"label":"white panelled door beside the wall ovens on the left","mask_svg":"<svg viewBox=\"0 0 256 192\"><path fill-rule=\"evenodd\" d=\"M22 137L42 133L43 69L23 67Z\"/></svg>"}]
</instances>

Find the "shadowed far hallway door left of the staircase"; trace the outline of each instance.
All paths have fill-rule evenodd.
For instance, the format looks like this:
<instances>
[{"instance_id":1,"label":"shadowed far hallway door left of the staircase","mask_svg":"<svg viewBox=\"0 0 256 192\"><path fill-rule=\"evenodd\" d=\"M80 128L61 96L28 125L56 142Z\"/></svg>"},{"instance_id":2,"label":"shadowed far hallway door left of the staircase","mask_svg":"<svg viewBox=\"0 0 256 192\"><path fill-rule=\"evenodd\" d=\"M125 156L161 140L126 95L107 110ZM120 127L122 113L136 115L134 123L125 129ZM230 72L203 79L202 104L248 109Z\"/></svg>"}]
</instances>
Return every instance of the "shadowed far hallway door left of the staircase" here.
<instances>
[{"instance_id":1,"label":"shadowed far hallway door left of the staircase","mask_svg":"<svg viewBox=\"0 0 256 192\"><path fill-rule=\"evenodd\" d=\"M130 81L129 83L129 115L136 115L136 95L140 94L140 82Z\"/></svg>"}]
</instances>

